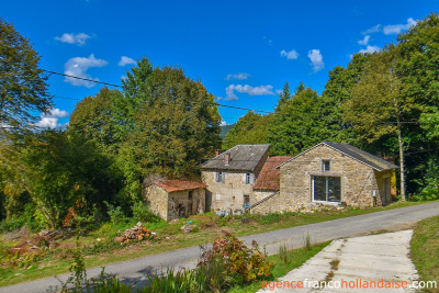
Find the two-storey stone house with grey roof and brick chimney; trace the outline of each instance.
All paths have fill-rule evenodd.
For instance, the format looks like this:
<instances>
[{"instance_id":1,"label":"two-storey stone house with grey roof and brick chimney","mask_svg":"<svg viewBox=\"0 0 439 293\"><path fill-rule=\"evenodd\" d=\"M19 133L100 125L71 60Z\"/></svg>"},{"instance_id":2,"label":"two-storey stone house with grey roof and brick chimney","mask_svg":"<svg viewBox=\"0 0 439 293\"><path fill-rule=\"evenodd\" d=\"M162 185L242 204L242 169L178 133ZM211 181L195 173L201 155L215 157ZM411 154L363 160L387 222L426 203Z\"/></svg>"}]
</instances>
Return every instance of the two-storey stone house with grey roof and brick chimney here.
<instances>
[{"instance_id":1,"label":"two-storey stone house with grey roof and brick chimney","mask_svg":"<svg viewBox=\"0 0 439 293\"><path fill-rule=\"evenodd\" d=\"M269 149L270 145L237 145L202 164L206 211L239 211L257 202L252 187Z\"/></svg>"}]
</instances>

